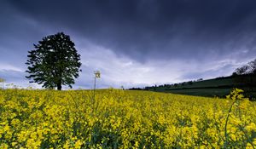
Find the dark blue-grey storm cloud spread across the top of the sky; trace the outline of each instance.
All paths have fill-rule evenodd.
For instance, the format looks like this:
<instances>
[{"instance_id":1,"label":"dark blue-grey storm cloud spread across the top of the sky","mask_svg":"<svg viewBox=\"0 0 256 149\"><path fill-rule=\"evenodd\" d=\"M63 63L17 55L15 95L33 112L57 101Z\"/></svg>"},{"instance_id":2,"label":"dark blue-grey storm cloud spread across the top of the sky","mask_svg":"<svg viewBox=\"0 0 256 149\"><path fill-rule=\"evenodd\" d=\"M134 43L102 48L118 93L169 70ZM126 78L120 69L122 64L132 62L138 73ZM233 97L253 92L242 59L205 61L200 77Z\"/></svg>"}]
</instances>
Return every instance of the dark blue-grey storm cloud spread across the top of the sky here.
<instances>
[{"instance_id":1,"label":"dark blue-grey storm cloud spread across the top of the sky","mask_svg":"<svg viewBox=\"0 0 256 149\"><path fill-rule=\"evenodd\" d=\"M241 49L256 53L253 0L8 2L41 26L67 29L136 60L204 59Z\"/></svg>"}]
</instances>

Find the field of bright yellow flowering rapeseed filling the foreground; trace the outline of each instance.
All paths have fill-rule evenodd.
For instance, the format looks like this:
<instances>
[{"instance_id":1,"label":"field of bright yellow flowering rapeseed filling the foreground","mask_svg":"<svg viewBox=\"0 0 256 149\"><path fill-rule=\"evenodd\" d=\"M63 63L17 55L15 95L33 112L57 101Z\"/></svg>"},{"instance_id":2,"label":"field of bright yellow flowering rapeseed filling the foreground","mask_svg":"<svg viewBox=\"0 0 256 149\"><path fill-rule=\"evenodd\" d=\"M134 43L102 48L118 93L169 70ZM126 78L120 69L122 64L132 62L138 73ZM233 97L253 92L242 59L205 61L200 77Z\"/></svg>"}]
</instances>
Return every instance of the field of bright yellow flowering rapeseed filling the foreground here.
<instances>
[{"instance_id":1,"label":"field of bright yellow flowering rapeseed filling the foreground","mask_svg":"<svg viewBox=\"0 0 256 149\"><path fill-rule=\"evenodd\" d=\"M0 148L255 148L255 123L237 92L0 90Z\"/></svg>"}]
</instances>

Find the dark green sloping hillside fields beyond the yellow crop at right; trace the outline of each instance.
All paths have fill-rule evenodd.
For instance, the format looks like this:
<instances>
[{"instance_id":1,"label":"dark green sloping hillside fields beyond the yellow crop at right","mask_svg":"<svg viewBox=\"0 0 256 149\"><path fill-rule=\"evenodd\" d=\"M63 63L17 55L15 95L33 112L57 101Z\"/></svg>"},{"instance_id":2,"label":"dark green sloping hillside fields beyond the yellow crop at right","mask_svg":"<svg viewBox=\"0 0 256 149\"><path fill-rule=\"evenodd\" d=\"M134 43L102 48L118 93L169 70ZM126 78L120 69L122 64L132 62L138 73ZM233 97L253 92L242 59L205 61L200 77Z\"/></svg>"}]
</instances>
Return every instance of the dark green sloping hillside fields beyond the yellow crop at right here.
<instances>
[{"instance_id":1,"label":"dark green sloping hillside fields beyond the yellow crop at right","mask_svg":"<svg viewBox=\"0 0 256 149\"><path fill-rule=\"evenodd\" d=\"M241 80L240 82L237 81ZM149 90L157 92L166 92L181 95L197 95L197 96L207 96L207 97L224 97L229 95L230 91L234 88L247 89L246 84L249 77L239 76L239 77L218 77L214 79L208 79L192 83L179 83L176 86L160 86L150 88ZM249 93L250 95L256 95L255 88L254 92Z\"/></svg>"}]
</instances>

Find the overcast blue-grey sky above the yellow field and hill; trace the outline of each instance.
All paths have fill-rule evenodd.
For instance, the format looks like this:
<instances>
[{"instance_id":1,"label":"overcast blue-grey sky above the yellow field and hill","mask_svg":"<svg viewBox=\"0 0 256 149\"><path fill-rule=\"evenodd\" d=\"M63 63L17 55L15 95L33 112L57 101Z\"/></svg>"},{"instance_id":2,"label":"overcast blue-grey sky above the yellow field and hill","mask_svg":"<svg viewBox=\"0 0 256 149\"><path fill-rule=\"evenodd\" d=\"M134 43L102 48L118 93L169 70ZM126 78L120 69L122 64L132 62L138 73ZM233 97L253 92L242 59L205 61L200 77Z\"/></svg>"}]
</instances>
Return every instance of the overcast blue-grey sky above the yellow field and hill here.
<instances>
[{"instance_id":1,"label":"overcast blue-grey sky above the yellow field and hill","mask_svg":"<svg viewBox=\"0 0 256 149\"><path fill-rule=\"evenodd\" d=\"M26 87L27 51L64 32L81 54L73 87L143 87L229 76L256 58L255 0L1 0L0 77Z\"/></svg>"}]
</instances>

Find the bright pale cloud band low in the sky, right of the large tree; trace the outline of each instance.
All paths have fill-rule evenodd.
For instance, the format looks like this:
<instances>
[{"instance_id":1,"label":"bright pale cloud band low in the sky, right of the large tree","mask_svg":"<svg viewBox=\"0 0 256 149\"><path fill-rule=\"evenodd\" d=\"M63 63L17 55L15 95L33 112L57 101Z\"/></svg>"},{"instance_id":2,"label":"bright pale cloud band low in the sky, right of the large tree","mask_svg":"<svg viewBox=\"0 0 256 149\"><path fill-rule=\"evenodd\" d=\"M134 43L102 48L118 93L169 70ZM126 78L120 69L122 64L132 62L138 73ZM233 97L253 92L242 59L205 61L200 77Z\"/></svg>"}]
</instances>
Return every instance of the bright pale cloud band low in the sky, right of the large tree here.
<instances>
[{"instance_id":1,"label":"bright pale cloud band low in the sky, right of the large tree","mask_svg":"<svg viewBox=\"0 0 256 149\"><path fill-rule=\"evenodd\" d=\"M202 63L195 60L150 60L142 63L86 40L80 42L77 49L83 63L83 72L78 82L83 84L79 84L80 86L90 89L94 83L93 72L97 70L102 72L102 78L98 80L99 86L131 88L231 75L236 67L247 60L243 56L246 51L242 51L231 53L218 61L212 58L210 61L203 60ZM237 56L241 59L237 59Z\"/></svg>"}]
</instances>

